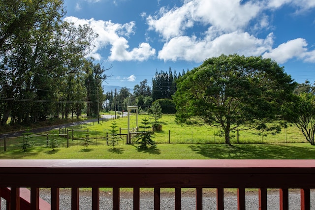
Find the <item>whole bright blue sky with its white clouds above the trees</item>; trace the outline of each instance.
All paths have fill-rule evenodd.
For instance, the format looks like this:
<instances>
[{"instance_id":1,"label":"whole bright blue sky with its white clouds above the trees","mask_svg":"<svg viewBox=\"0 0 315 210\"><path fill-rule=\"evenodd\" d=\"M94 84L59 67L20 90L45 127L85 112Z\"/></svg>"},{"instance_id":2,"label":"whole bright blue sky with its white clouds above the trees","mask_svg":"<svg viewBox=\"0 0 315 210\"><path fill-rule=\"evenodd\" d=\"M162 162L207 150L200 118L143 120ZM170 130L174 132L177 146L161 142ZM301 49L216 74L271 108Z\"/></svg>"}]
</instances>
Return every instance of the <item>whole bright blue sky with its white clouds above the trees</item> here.
<instances>
[{"instance_id":1,"label":"whole bright blue sky with its white clouds above the trees","mask_svg":"<svg viewBox=\"0 0 315 210\"><path fill-rule=\"evenodd\" d=\"M64 0L64 21L98 33L89 54L133 89L156 71L199 66L221 54L276 60L315 82L315 0ZM105 89L105 91L108 91Z\"/></svg>"}]
</instances>

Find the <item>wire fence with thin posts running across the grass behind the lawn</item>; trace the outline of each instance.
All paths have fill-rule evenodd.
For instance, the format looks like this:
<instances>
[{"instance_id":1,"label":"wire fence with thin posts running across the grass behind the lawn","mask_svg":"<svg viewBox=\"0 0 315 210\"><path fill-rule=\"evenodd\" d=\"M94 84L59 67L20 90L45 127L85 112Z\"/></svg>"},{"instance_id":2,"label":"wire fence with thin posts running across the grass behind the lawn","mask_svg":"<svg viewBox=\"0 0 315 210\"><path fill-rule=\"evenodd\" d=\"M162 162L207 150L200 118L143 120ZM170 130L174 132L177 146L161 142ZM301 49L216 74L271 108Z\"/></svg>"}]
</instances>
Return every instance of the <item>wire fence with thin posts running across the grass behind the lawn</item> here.
<instances>
[{"instance_id":1,"label":"wire fence with thin posts running across the grass behind the lawn","mask_svg":"<svg viewBox=\"0 0 315 210\"><path fill-rule=\"evenodd\" d=\"M124 130L124 129L122 129ZM127 131L121 135L120 145L127 142ZM124 133L122 132L122 133ZM232 144L273 144L273 143L302 143L306 142L302 133L289 132L283 130L282 133L277 135L259 134L250 131L239 131L237 134L231 133L230 142ZM218 135L218 132L213 130L199 132L193 129L185 129L178 133L176 130L166 130L155 132L152 134L152 139L157 144L224 144L224 136ZM131 139L131 142L135 138ZM46 147L51 148L53 142L59 148L66 147L82 147L84 144L93 146L105 146L108 144L108 131L103 129L99 130L74 130L74 129L60 129L56 134L40 134L30 135L29 137L19 138L0 138L0 150L22 150L23 144L27 141L32 147ZM56 146L56 145L55 145Z\"/></svg>"}]
</instances>

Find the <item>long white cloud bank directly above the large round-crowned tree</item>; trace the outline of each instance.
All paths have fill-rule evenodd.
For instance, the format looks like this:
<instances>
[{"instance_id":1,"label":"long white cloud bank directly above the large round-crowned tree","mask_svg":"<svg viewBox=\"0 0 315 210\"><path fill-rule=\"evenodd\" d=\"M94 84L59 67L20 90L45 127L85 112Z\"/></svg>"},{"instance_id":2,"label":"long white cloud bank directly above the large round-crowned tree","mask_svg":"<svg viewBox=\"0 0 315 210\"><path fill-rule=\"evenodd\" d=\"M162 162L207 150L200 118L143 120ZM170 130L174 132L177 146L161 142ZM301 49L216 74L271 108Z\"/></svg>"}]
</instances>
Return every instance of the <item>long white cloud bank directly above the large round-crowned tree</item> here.
<instances>
[{"instance_id":1,"label":"long white cloud bank directly above the large round-crowned tree","mask_svg":"<svg viewBox=\"0 0 315 210\"><path fill-rule=\"evenodd\" d=\"M217 37L213 37L209 33L201 40L195 36L179 36L164 44L163 49L158 52L158 59L201 62L221 54L238 53L245 56L259 56L267 50L271 50L272 44L272 33L265 39L259 39L248 32L239 31L225 33Z\"/></svg>"}]
</instances>

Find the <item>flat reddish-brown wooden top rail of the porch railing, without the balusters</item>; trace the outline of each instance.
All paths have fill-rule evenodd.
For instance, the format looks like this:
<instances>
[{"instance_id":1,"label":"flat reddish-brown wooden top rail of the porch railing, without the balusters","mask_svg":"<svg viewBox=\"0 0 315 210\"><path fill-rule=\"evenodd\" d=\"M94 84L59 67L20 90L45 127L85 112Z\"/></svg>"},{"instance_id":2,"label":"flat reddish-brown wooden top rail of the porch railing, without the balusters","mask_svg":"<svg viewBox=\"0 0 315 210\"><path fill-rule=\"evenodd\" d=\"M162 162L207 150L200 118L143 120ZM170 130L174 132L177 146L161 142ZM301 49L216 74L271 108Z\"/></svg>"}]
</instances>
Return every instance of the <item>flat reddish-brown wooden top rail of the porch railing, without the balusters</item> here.
<instances>
[{"instance_id":1,"label":"flat reddish-brown wooden top rail of the porch railing, without the balusters","mask_svg":"<svg viewBox=\"0 0 315 210\"><path fill-rule=\"evenodd\" d=\"M0 187L315 188L315 160L0 160Z\"/></svg>"}]
</instances>

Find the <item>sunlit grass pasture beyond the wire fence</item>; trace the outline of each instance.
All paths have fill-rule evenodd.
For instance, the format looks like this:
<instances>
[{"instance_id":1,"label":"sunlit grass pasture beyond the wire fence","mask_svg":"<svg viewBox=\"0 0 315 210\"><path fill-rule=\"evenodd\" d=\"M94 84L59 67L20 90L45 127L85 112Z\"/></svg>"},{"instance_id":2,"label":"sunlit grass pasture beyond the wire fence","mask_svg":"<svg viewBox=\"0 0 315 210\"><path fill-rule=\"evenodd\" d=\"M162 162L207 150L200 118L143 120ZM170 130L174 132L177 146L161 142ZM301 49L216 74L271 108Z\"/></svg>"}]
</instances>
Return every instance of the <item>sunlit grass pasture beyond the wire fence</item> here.
<instances>
[{"instance_id":1,"label":"sunlit grass pasture beyond the wire fence","mask_svg":"<svg viewBox=\"0 0 315 210\"><path fill-rule=\"evenodd\" d=\"M147 115L138 116L138 126L141 126L141 121L144 118L149 118ZM188 126L180 125L175 123L174 115L163 115L160 119L162 124L162 131L156 132L154 136L154 141L157 143L180 143L180 144L202 144L202 143L224 143L224 137L218 136L220 131L219 128L210 126ZM89 129L89 134L91 138L100 138L106 136L109 132L110 125L113 120L91 122L88 124L77 125L69 127L68 129ZM123 128L122 133L126 133L127 130L127 117L119 118L115 120L118 128ZM136 127L136 116L133 114L130 116L130 128ZM58 133L59 130L53 131L53 133ZM52 132L51 132L52 133ZM74 138L82 138L86 133L74 132ZM265 136L267 134L267 136ZM231 132L231 135L235 136L231 140L232 144L237 143L237 133ZM241 130L239 131L239 143L302 143L306 142L305 137L298 130L296 126L289 126L283 129L280 134L271 135L264 133L264 135L259 135L259 131L256 130Z\"/></svg>"}]
</instances>

